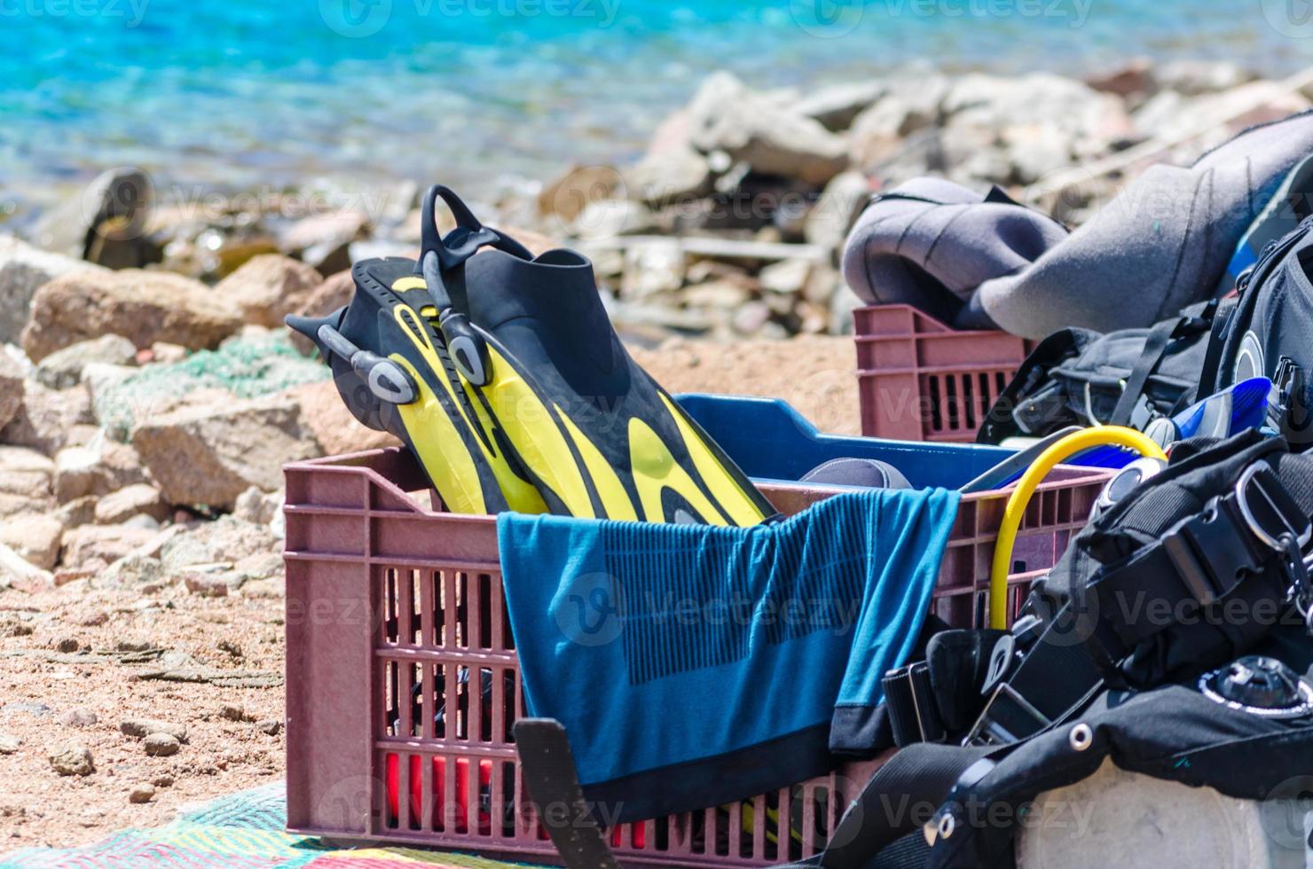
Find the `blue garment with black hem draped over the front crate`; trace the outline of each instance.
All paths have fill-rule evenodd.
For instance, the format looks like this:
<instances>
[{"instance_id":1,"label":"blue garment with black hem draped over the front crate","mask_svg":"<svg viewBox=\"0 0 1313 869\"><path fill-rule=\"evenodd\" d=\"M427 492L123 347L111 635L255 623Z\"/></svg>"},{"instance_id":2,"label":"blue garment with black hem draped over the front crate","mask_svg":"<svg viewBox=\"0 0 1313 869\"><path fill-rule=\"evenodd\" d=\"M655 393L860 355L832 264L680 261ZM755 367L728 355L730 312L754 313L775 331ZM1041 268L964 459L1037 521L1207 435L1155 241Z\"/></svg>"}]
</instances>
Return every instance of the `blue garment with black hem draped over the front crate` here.
<instances>
[{"instance_id":1,"label":"blue garment with black hem draped over the front crate","mask_svg":"<svg viewBox=\"0 0 1313 869\"><path fill-rule=\"evenodd\" d=\"M911 652L957 492L856 491L775 525L498 516L530 715L565 725L608 820L834 767Z\"/></svg>"}]
</instances>

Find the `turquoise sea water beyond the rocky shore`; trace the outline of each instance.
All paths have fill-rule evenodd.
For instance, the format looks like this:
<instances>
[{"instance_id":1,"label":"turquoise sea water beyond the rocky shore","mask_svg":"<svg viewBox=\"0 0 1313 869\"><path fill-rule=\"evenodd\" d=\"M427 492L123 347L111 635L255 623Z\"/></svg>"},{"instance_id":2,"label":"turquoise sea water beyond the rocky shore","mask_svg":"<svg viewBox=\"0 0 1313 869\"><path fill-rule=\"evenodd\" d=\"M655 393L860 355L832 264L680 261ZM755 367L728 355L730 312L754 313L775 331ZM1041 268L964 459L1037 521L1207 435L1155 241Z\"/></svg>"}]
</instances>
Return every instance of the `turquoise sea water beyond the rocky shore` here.
<instances>
[{"instance_id":1,"label":"turquoise sea water beyond the rocky shore","mask_svg":"<svg viewBox=\"0 0 1313 869\"><path fill-rule=\"evenodd\" d=\"M184 182L551 175L622 159L726 67L1313 62L1304 0L0 0L0 193L133 163ZM12 196L12 193L11 193Z\"/></svg>"}]
</instances>

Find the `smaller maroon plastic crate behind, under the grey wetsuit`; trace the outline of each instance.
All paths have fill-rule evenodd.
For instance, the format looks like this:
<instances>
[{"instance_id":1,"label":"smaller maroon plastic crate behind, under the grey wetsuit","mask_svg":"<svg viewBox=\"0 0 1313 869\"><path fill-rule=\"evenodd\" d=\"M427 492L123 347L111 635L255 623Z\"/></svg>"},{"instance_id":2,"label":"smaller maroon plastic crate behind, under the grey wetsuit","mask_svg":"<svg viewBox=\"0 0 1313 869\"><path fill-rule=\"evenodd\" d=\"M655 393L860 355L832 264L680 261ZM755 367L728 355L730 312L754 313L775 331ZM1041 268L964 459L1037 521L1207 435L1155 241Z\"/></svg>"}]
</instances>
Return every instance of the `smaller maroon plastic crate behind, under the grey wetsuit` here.
<instances>
[{"instance_id":1,"label":"smaller maroon plastic crate behind, under the grey wetsuit","mask_svg":"<svg viewBox=\"0 0 1313 869\"><path fill-rule=\"evenodd\" d=\"M1035 341L958 332L909 305L853 311L861 433L973 442Z\"/></svg>"}]
</instances>

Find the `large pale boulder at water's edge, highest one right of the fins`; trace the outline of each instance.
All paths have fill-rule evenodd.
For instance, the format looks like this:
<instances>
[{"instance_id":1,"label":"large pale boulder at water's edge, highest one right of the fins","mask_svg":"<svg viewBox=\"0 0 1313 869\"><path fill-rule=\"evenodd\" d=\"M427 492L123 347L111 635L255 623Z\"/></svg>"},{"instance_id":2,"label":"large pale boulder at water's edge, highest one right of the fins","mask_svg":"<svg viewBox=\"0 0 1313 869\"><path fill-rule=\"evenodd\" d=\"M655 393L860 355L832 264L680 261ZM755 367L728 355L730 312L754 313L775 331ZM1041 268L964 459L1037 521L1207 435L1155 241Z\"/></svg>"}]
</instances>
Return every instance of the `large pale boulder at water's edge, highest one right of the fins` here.
<instances>
[{"instance_id":1,"label":"large pale boulder at water's edge, highest one right of the fins","mask_svg":"<svg viewBox=\"0 0 1313 869\"><path fill-rule=\"evenodd\" d=\"M786 102L748 89L729 72L704 81L688 113L699 151L723 151L763 175L819 186L848 163L843 137Z\"/></svg>"}]
</instances>

